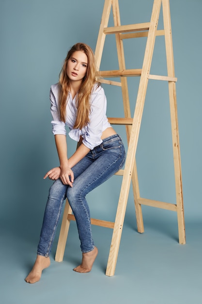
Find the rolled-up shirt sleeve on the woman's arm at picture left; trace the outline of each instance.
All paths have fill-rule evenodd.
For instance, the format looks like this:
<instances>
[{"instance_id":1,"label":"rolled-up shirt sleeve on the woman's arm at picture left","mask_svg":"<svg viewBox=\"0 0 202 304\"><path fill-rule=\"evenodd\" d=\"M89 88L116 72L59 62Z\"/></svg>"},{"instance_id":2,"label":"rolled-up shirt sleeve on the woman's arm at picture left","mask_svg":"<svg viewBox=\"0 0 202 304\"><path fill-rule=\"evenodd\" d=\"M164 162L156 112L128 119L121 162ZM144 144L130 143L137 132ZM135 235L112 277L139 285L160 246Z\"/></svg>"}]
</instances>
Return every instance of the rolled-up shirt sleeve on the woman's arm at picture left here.
<instances>
[{"instance_id":1,"label":"rolled-up shirt sleeve on the woman's arm at picture left","mask_svg":"<svg viewBox=\"0 0 202 304\"><path fill-rule=\"evenodd\" d=\"M52 133L66 135L65 123L61 121L59 115L59 101L58 101L58 85L53 84L50 88L50 112L53 120L52 124Z\"/></svg>"}]
</instances>

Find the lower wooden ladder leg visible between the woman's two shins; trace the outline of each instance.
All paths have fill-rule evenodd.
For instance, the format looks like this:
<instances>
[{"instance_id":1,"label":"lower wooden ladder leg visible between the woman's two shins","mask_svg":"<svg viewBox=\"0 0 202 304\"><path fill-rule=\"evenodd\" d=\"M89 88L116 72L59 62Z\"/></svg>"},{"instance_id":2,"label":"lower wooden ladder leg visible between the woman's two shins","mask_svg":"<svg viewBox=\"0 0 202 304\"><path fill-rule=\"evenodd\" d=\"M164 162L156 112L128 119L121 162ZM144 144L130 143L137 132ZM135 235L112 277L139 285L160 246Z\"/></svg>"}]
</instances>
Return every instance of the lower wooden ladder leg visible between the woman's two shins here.
<instances>
[{"instance_id":1,"label":"lower wooden ladder leg visible between the woman's two shins","mask_svg":"<svg viewBox=\"0 0 202 304\"><path fill-rule=\"evenodd\" d=\"M72 214L72 209L69 205L68 200L66 199L65 207L64 207L64 213L62 218L62 225L60 230L60 236L58 239L58 246L55 254L55 260L57 262L62 262L63 256L64 256L64 250L66 246L67 236L69 232L69 224L70 220L67 219L68 214Z\"/></svg>"}]
</instances>

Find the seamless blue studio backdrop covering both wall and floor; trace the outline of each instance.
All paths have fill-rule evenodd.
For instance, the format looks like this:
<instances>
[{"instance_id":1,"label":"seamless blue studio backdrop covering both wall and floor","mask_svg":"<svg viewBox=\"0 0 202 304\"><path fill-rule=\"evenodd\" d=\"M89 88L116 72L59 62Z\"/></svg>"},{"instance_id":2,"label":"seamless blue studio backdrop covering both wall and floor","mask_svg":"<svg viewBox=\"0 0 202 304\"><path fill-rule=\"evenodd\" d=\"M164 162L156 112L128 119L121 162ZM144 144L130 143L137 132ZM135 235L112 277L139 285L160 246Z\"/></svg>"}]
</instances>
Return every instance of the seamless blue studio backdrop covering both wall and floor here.
<instances>
[{"instance_id":1,"label":"seamless blue studio backdrop covering both wall and floor","mask_svg":"<svg viewBox=\"0 0 202 304\"><path fill-rule=\"evenodd\" d=\"M122 24L150 20L153 0L119 2ZM187 243L178 244L176 213L147 206L142 208L145 233L137 234L130 191L114 277L104 275L111 231L100 227L93 227L99 248L93 271L86 276L72 271L80 262L72 223L64 262L53 261L56 237L50 269L33 286L24 278L35 259L52 183L43 176L58 165L49 88L58 81L74 43L85 42L95 49L104 0L0 0L0 299L4 304L94 303L94 297L100 304L201 303L202 0L170 2ZM144 38L124 41L127 68L141 68L145 42ZM101 66L108 68L118 68L112 37L106 39ZM163 37L156 38L151 73L166 75ZM139 79L130 78L128 83L133 111ZM104 88L108 116L122 116L120 88ZM124 128L116 130L126 143ZM71 155L76 143L69 138L67 142ZM166 82L149 82L137 165L141 196L175 203ZM89 194L93 217L114 219L120 186L121 177L114 176Z\"/></svg>"}]
</instances>

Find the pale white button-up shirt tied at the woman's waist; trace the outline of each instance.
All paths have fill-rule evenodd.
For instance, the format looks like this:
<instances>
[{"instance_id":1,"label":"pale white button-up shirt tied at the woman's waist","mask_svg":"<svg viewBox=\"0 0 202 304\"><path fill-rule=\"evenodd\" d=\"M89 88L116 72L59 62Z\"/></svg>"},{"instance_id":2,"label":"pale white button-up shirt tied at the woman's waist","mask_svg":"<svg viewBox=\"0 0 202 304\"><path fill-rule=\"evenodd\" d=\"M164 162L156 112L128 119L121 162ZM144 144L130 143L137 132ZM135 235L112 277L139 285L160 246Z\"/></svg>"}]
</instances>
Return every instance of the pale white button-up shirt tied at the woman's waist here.
<instances>
[{"instance_id":1,"label":"pale white button-up shirt tied at the woman's waist","mask_svg":"<svg viewBox=\"0 0 202 304\"><path fill-rule=\"evenodd\" d=\"M111 127L108 118L106 116L107 110L107 99L105 96L104 89L97 84L94 85L93 91L90 98L90 114L89 123L82 127L82 129L74 129L74 124L76 121L77 116L77 108L76 108L76 97L72 99L71 93L67 96L67 106L66 106L66 119L65 123L60 119L60 108L59 108L59 84L53 84L50 88L50 102L51 107L50 111L52 114L53 120L52 123L52 133L56 134L63 134L66 135L65 126L67 125L70 129L69 136L79 141L80 136L82 136L83 144L93 150L94 147L101 144L102 139L101 135L102 132L105 131L107 128Z\"/></svg>"}]
</instances>

